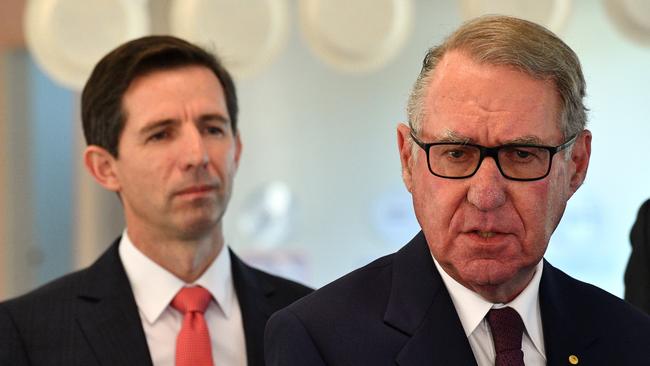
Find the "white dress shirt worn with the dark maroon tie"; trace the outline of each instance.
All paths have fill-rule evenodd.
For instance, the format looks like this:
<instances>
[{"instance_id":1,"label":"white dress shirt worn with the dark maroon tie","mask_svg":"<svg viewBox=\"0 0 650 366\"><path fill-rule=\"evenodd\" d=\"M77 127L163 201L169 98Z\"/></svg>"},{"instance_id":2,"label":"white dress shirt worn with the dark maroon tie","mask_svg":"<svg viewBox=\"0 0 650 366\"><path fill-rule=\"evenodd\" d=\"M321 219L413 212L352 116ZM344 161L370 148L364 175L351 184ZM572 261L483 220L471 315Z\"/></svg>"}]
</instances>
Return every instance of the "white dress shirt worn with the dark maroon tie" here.
<instances>
[{"instance_id":1,"label":"white dress shirt worn with the dark maroon tie","mask_svg":"<svg viewBox=\"0 0 650 366\"><path fill-rule=\"evenodd\" d=\"M546 365L542 317L539 310L539 281L542 278L542 269L544 267L542 261L537 264L533 279L526 288L507 304L494 304L486 301L477 293L449 276L435 258L433 261L449 291L460 322L465 330L465 335L467 335L469 344L472 347L474 358L476 358L479 366L493 366L496 358L492 333L485 316L492 308L499 309L506 306L515 309L519 313L526 327L521 342L526 366Z\"/></svg>"}]
</instances>

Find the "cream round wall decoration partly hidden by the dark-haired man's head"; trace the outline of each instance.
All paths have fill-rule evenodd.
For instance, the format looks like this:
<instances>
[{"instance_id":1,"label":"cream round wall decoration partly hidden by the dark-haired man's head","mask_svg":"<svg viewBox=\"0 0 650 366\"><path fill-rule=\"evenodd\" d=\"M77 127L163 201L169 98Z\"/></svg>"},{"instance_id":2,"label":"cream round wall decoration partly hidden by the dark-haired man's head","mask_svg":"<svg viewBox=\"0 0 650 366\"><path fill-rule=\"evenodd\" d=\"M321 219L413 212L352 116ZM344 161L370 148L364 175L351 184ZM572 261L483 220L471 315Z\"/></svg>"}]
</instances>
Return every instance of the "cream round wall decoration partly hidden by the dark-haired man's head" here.
<instances>
[{"instance_id":1,"label":"cream round wall decoration partly hidden by the dark-haired man's head","mask_svg":"<svg viewBox=\"0 0 650 366\"><path fill-rule=\"evenodd\" d=\"M214 49L237 77L254 75L285 46L287 0L173 0L171 32Z\"/></svg>"}]
</instances>

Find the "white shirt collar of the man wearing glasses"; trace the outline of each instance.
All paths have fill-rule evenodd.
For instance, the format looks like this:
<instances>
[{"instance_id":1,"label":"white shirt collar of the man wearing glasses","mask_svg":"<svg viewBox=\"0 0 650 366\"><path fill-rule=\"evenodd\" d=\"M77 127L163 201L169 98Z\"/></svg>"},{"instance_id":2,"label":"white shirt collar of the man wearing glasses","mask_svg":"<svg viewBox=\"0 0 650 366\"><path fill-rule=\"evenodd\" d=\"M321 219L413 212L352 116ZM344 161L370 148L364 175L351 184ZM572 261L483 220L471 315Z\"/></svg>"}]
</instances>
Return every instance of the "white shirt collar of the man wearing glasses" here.
<instances>
[{"instance_id":1,"label":"white shirt collar of the man wearing glasses","mask_svg":"<svg viewBox=\"0 0 650 366\"><path fill-rule=\"evenodd\" d=\"M433 258L433 255L431 257ZM542 279L542 270L544 268L543 260L535 267L533 279L528 283L526 288L514 300L507 304L495 304L486 301L479 294L461 285L447 274L435 258L433 258L433 262L442 277L442 281L447 287L447 291L451 296L451 300L454 303L454 307L456 308L467 337L479 326L490 309L509 306L515 309L519 313L519 316L521 316L528 337L535 345L535 348L541 354L546 354L544 351L542 317L539 308L539 283Z\"/></svg>"}]
</instances>

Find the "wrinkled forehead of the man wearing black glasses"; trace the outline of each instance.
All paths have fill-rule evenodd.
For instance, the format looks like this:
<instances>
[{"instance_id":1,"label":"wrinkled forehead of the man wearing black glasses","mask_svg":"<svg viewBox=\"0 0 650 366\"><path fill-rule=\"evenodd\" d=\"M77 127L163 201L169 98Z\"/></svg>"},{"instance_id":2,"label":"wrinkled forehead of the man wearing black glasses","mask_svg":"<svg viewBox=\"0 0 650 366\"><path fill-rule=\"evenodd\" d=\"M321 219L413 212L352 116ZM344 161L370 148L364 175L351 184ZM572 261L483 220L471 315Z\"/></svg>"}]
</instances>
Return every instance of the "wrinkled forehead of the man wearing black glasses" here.
<instances>
[{"instance_id":1,"label":"wrinkled forehead of the man wearing black glasses","mask_svg":"<svg viewBox=\"0 0 650 366\"><path fill-rule=\"evenodd\" d=\"M434 69L423 108L422 133L430 138L482 143L562 138L561 98L553 80L479 63L460 52L445 55Z\"/></svg>"}]
</instances>

